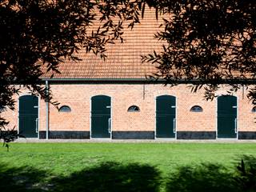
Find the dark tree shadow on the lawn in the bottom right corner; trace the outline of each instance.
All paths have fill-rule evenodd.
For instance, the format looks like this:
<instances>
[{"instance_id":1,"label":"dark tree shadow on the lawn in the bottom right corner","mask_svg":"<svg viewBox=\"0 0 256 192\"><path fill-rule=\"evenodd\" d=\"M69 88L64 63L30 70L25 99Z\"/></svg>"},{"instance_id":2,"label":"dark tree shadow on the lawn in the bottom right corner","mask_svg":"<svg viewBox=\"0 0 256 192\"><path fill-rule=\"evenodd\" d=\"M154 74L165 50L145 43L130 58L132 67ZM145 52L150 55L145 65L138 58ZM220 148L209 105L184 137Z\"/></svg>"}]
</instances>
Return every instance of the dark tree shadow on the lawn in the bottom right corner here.
<instances>
[{"instance_id":1,"label":"dark tree shadow on the lawn in the bottom right corner","mask_svg":"<svg viewBox=\"0 0 256 192\"><path fill-rule=\"evenodd\" d=\"M256 191L256 158L242 156L234 170L218 164L178 167L166 182L166 192Z\"/></svg>"}]
</instances>

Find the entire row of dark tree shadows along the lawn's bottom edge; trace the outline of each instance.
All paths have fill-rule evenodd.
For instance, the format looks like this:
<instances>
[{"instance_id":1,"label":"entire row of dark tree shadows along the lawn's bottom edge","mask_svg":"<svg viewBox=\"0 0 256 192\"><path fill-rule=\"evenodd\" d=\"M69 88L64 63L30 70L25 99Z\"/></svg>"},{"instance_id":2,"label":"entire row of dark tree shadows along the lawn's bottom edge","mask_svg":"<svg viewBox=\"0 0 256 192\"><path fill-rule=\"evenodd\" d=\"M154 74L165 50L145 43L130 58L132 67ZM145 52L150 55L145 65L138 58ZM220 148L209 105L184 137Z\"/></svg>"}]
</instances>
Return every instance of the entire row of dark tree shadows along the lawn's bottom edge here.
<instances>
[{"instance_id":1,"label":"entire row of dark tree shadows along the lawn's bottom edge","mask_svg":"<svg viewBox=\"0 0 256 192\"><path fill-rule=\"evenodd\" d=\"M29 166L0 164L0 191L52 192L245 192L256 191L256 158L245 156L234 170L216 164L180 166L164 178L154 166L105 162L69 176L54 175Z\"/></svg>"}]
</instances>

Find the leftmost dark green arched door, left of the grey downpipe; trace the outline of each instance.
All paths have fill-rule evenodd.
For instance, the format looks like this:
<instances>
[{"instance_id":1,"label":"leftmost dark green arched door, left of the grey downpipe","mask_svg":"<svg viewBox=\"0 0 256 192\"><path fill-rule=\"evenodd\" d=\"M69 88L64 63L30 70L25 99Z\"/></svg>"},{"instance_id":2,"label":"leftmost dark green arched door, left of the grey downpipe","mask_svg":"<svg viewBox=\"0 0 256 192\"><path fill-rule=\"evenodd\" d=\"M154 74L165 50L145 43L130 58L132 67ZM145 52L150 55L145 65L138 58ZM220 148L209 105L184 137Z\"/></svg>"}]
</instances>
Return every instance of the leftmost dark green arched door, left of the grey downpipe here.
<instances>
[{"instance_id":1,"label":"leftmost dark green arched door, left of the grey downpipe","mask_svg":"<svg viewBox=\"0 0 256 192\"><path fill-rule=\"evenodd\" d=\"M18 132L26 138L38 138L38 97L24 95L18 102Z\"/></svg>"}]
</instances>

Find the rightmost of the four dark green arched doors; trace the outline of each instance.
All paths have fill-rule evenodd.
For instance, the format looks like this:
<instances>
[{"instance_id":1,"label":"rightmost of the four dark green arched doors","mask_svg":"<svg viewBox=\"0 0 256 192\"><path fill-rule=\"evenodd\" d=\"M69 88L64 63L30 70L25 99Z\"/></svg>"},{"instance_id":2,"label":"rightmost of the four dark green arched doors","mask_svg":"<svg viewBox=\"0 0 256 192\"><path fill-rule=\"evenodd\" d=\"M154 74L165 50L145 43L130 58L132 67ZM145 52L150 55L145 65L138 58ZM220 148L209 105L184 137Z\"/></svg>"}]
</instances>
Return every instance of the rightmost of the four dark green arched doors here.
<instances>
[{"instance_id":1,"label":"rightmost of the four dark green arched doors","mask_svg":"<svg viewBox=\"0 0 256 192\"><path fill-rule=\"evenodd\" d=\"M223 95L218 100L218 138L237 138L237 98Z\"/></svg>"}]
</instances>

